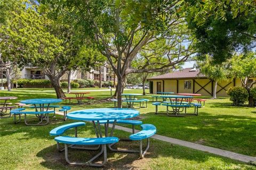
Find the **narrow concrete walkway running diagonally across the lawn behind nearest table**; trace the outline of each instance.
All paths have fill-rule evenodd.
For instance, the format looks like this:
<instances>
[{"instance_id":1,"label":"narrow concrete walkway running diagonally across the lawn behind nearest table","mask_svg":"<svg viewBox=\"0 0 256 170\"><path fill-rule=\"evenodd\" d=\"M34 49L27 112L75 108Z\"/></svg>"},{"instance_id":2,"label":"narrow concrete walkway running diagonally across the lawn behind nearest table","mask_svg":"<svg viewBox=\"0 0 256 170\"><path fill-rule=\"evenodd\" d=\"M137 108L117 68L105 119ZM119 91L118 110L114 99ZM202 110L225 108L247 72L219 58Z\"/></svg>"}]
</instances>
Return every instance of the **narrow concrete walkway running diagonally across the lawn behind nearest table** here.
<instances>
[{"instance_id":1,"label":"narrow concrete walkway running diagonally across the lawn behind nearest table","mask_svg":"<svg viewBox=\"0 0 256 170\"><path fill-rule=\"evenodd\" d=\"M56 112L56 113L60 114L60 115L63 115L63 113L60 113L60 112ZM109 126L110 126L110 128L112 128L112 124L109 124ZM132 129L125 128L123 126L116 125L115 129L123 130L125 132L132 133ZM135 130L135 132L137 133L139 131ZM191 148L191 149L196 149L196 150L201 150L201 151L204 151L204 152L209 152L211 154L227 157L227 158L230 158L230 159L239 160L239 161L245 162L245 163L249 163L249 162L256 163L256 158L255 157L242 155L242 154L237 154L236 152L231 152L231 151L222 150L222 149L218 149L218 148L199 145L197 143L187 142L187 141L183 141L183 140L179 140L179 139L175 139L175 138L169 138L169 137L165 137L165 136L158 135L158 134L155 134L152 138L157 139L157 140L161 140L161 141L165 141L165 142L169 142L169 143L172 143L172 144L175 144L175 145L188 147L188 148Z\"/></svg>"}]
</instances>

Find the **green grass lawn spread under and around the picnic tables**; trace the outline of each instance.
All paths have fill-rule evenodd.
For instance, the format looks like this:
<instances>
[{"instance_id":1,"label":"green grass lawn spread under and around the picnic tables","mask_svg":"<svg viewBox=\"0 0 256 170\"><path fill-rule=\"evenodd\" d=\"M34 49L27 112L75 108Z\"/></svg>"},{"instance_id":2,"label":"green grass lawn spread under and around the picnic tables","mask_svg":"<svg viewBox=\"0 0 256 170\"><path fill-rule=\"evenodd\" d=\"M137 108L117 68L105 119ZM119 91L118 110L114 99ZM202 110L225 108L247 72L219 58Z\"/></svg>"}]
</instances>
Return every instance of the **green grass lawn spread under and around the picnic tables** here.
<instances>
[{"instance_id":1,"label":"green grass lawn spread under and around the picnic tables","mask_svg":"<svg viewBox=\"0 0 256 170\"><path fill-rule=\"evenodd\" d=\"M11 92L1 91L1 96L17 96L18 100L30 98L55 98L52 89L18 89ZM80 90L80 89L79 89ZM127 90L125 93L141 93L142 90ZM109 91L92 91L95 96L93 105L71 105L72 111L86 108L113 107L106 102ZM150 98L147 95L143 98ZM138 97L142 98L142 97ZM151 99L151 98L150 98ZM60 105L64 105L63 102ZM165 107L159 107L160 113L155 115L155 107L149 103L148 108L140 109L143 123L154 124L157 134L181 140L200 143L206 146L235 151L241 154L256 156L256 109L234 107L228 98L207 100L206 106L199 109L198 116L169 117ZM188 109L192 112L193 109ZM68 166L62 153L56 149L49 131L56 126L68 122L51 122L45 126L26 126L23 122L13 124L13 118L0 121L0 169L82 169ZM138 127L139 129L139 127ZM72 131L70 132L71 135ZM79 136L93 137L90 123L79 129ZM129 133L115 131L117 137L127 137ZM107 169L256 169L231 159L215 156L206 152L188 149L170 143L151 140L151 146L145 159L138 159L137 154L108 153ZM139 147L133 142L121 142L118 147ZM75 150L70 152L70 159L86 160L95 154ZM89 156L90 155L90 156ZM71 159L72 160L72 159ZM2 168L3 167L3 168ZM87 168L87 167L86 167Z\"/></svg>"}]
</instances>

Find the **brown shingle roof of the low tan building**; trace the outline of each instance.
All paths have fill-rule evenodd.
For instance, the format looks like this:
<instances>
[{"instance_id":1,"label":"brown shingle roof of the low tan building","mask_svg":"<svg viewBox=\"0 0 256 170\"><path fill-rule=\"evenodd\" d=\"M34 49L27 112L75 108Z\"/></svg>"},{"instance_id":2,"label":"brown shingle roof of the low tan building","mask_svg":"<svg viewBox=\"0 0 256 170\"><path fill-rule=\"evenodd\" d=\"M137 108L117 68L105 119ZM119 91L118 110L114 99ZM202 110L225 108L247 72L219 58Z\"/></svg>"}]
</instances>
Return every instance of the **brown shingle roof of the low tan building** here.
<instances>
[{"instance_id":1,"label":"brown shingle roof of the low tan building","mask_svg":"<svg viewBox=\"0 0 256 170\"><path fill-rule=\"evenodd\" d=\"M207 78L205 75L201 74L199 70L193 68L186 68L179 71L174 71L172 73L166 73L162 75L157 75L155 77L148 78L147 80L172 80L172 79L188 79L188 78Z\"/></svg>"}]
</instances>

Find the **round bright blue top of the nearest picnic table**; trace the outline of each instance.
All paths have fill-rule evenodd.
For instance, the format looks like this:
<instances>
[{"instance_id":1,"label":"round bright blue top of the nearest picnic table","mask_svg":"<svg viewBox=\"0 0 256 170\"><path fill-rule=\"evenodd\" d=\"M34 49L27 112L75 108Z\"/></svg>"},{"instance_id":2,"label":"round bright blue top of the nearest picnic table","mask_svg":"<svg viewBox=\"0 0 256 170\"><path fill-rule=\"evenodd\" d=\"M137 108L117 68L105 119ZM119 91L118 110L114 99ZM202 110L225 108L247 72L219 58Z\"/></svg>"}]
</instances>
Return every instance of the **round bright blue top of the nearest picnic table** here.
<instances>
[{"instance_id":1,"label":"round bright blue top of the nearest picnic table","mask_svg":"<svg viewBox=\"0 0 256 170\"><path fill-rule=\"evenodd\" d=\"M67 118L81 121L107 121L136 117L139 114L139 111L127 108L95 108L70 112Z\"/></svg>"}]
</instances>

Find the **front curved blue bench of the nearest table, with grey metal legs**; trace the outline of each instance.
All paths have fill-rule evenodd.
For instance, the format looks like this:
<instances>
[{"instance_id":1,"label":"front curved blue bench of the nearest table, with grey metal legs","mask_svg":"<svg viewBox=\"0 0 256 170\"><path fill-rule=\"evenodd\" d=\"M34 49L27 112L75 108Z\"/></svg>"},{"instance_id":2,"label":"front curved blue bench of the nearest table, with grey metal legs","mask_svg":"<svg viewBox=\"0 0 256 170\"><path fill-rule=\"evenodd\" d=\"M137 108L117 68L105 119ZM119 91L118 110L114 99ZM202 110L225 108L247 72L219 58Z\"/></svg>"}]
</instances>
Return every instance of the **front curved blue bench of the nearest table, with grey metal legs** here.
<instances>
[{"instance_id":1,"label":"front curved blue bench of the nearest table, with grey metal legs","mask_svg":"<svg viewBox=\"0 0 256 170\"><path fill-rule=\"evenodd\" d=\"M64 143L65 145L65 159L68 164L71 165L89 165L89 166L97 166L101 167L106 164L107 162L107 144L116 143L119 141L116 137L105 137L105 138L74 138L74 137L55 137L55 141L58 143ZM85 163L77 163L77 162L70 162L68 159L68 144L69 145L101 145L101 151L91 158L89 161ZM92 163L94 159L98 158L103 154L103 162L102 163Z\"/></svg>"}]
</instances>

